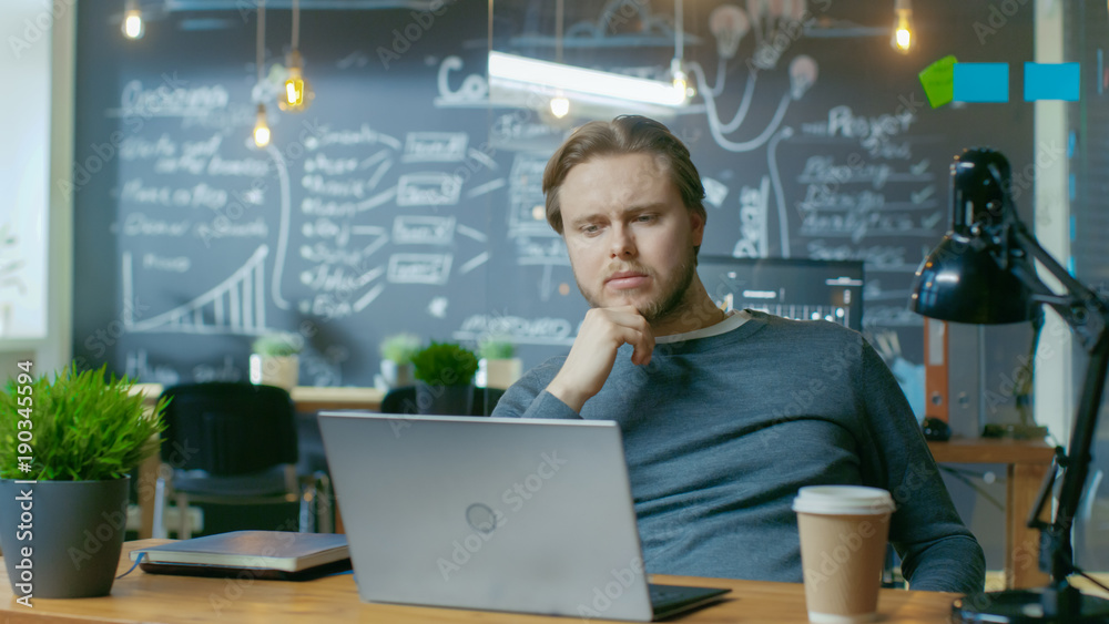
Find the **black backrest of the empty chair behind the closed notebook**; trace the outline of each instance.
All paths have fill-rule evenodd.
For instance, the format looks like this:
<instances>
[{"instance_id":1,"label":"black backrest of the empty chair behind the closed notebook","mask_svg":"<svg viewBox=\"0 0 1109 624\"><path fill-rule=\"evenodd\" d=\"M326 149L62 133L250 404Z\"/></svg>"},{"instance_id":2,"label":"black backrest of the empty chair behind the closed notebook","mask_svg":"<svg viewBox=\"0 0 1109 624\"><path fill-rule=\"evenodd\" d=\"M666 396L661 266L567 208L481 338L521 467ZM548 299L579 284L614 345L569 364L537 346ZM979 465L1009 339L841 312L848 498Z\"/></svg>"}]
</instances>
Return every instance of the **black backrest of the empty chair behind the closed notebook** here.
<instances>
[{"instance_id":1,"label":"black backrest of the empty chair behind the closed notebook","mask_svg":"<svg viewBox=\"0 0 1109 624\"><path fill-rule=\"evenodd\" d=\"M213 381L173 386L162 461L174 469L245 474L296 463L296 410L273 386Z\"/></svg>"}]
</instances>

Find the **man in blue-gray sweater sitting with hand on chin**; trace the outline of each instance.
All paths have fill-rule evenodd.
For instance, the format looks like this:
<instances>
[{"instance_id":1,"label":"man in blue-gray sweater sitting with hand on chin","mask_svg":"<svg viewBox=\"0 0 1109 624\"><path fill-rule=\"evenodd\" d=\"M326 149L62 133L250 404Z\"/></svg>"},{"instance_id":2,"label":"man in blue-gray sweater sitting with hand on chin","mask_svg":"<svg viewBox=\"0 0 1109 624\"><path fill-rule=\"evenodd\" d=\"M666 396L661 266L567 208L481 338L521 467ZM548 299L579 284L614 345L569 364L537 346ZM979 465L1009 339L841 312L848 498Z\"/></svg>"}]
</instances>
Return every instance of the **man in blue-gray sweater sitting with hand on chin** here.
<instances>
[{"instance_id":1,"label":"man in blue-gray sweater sitting with hand on chin","mask_svg":"<svg viewBox=\"0 0 1109 624\"><path fill-rule=\"evenodd\" d=\"M862 336L713 304L695 272L704 190L665 126L586 124L543 192L591 309L569 355L494 416L620 423L649 572L800 582L797 489L864 484L898 505L889 534L912 589L981 591L981 549Z\"/></svg>"}]
</instances>

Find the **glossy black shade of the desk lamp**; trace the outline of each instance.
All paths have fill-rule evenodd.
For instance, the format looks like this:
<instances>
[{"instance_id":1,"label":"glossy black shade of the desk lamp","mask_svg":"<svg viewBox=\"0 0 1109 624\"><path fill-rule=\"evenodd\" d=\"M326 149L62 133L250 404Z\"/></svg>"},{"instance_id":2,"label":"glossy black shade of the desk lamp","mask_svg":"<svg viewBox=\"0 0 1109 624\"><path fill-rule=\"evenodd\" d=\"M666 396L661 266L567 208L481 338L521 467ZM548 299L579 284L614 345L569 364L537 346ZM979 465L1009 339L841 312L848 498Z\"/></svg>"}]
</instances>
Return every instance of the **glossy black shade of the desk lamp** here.
<instances>
[{"instance_id":1,"label":"glossy black shade of the desk lamp","mask_svg":"<svg viewBox=\"0 0 1109 624\"><path fill-rule=\"evenodd\" d=\"M1030 320L1031 293L989 248L948 232L916 272L909 309L940 320L994 325Z\"/></svg>"}]
</instances>

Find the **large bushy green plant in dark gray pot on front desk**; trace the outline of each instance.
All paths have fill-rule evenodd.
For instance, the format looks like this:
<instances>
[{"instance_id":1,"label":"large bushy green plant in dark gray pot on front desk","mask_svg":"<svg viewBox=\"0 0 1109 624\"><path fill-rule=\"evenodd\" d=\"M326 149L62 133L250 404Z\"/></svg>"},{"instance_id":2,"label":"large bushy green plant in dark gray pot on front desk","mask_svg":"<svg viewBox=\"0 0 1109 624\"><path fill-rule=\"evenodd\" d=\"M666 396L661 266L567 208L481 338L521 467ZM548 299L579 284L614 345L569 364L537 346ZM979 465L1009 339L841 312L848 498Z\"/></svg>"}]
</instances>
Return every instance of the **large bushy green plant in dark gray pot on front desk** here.
<instances>
[{"instance_id":1,"label":"large bushy green plant in dark gray pot on front desk","mask_svg":"<svg viewBox=\"0 0 1109 624\"><path fill-rule=\"evenodd\" d=\"M162 410L106 365L53 380L31 362L0 392L0 549L19 602L108 595L133 470L159 449Z\"/></svg>"}]
</instances>

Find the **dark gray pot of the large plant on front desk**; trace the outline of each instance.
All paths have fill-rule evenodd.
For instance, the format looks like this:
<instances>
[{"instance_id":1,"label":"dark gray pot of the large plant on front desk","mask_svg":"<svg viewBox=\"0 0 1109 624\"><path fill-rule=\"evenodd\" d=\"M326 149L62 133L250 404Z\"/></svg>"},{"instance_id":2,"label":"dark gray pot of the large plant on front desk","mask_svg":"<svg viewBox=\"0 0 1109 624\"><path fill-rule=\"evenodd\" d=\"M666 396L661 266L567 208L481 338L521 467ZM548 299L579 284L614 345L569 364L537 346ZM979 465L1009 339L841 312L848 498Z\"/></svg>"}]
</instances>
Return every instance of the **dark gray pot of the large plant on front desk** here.
<instances>
[{"instance_id":1,"label":"dark gray pot of the large plant on front desk","mask_svg":"<svg viewBox=\"0 0 1109 624\"><path fill-rule=\"evenodd\" d=\"M82 599L112 591L130 483L130 477L0 480L0 548L17 599Z\"/></svg>"}]
</instances>

